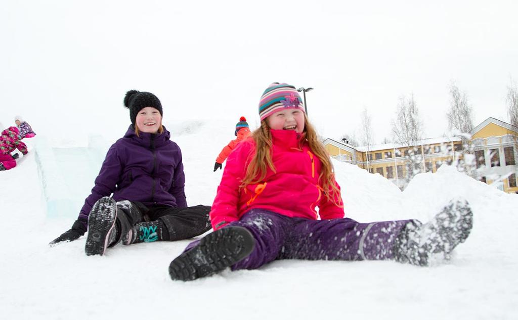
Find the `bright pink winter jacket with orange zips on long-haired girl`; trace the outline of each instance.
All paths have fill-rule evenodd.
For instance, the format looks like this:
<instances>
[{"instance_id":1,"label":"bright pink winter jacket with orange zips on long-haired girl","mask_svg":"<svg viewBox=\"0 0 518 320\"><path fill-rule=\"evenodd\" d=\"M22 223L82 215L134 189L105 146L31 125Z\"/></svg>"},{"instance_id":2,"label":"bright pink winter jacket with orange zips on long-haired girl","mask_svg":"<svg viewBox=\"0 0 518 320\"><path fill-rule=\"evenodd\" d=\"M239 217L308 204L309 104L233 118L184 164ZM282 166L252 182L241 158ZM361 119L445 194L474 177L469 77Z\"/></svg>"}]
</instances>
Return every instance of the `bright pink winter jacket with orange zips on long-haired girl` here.
<instances>
[{"instance_id":1,"label":"bright pink winter jacket with orange zips on long-haired girl","mask_svg":"<svg viewBox=\"0 0 518 320\"><path fill-rule=\"evenodd\" d=\"M253 138L239 143L228 156L210 211L214 230L239 220L254 208L311 220L318 219L318 215L321 219L343 218L342 200L339 199L339 206L336 206L322 194L318 182L321 162L307 142L301 141L300 135L292 130L271 130L271 135L276 172L268 168L260 183L239 187L255 151ZM315 211L316 206L319 214Z\"/></svg>"}]
</instances>

